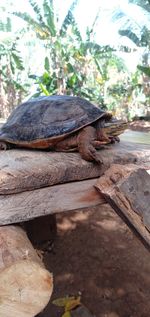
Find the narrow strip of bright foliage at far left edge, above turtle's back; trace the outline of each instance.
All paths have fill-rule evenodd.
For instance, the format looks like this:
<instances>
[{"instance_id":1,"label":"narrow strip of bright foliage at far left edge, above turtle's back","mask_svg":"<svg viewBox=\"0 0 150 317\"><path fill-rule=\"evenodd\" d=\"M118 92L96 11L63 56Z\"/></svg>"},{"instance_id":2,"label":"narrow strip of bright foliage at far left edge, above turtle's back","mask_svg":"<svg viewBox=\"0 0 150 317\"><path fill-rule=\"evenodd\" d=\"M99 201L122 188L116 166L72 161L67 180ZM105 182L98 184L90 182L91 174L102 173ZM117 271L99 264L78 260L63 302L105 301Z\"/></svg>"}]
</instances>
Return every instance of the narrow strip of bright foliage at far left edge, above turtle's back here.
<instances>
[{"instance_id":1,"label":"narrow strip of bright foliage at far left edge, above turtle's back","mask_svg":"<svg viewBox=\"0 0 150 317\"><path fill-rule=\"evenodd\" d=\"M21 102L25 87L21 84L20 76L24 70L20 52L17 49L18 36L12 37L11 20L1 21L0 32L0 115L7 117L13 107Z\"/></svg>"}]
</instances>

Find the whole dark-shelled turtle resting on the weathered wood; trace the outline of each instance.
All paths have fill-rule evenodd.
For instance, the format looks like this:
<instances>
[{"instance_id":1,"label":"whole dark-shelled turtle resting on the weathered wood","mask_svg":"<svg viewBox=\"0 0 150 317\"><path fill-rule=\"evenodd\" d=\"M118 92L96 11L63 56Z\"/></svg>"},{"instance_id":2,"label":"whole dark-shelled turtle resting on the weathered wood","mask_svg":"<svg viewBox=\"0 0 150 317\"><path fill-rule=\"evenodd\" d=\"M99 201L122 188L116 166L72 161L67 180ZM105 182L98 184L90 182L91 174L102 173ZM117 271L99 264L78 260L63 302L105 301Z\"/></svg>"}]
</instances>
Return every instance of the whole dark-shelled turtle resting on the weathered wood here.
<instances>
[{"instance_id":1,"label":"whole dark-shelled turtle resting on the weathered wood","mask_svg":"<svg viewBox=\"0 0 150 317\"><path fill-rule=\"evenodd\" d=\"M12 111L0 129L0 150L79 151L84 160L102 163L97 149L119 141L124 129L123 122L84 98L41 96Z\"/></svg>"}]
</instances>

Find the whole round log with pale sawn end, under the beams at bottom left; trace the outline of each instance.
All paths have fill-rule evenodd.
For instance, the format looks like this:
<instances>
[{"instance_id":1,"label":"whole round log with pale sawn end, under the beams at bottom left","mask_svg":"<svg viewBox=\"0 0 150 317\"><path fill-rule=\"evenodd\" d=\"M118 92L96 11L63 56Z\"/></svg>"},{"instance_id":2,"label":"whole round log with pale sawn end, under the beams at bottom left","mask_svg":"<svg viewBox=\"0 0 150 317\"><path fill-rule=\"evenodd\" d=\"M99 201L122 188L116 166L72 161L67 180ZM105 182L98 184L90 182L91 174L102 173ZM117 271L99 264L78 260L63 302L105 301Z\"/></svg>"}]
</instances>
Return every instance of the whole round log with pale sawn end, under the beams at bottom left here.
<instances>
[{"instance_id":1,"label":"whole round log with pale sawn end, under the beams at bottom left","mask_svg":"<svg viewBox=\"0 0 150 317\"><path fill-rule=\"evenodd\" d=\"M33 317L53 289L49 273L19 226L0 227L0 316Z\"/></svg>"}]
</instances>

